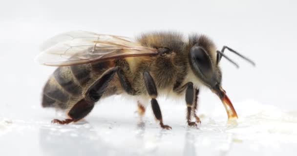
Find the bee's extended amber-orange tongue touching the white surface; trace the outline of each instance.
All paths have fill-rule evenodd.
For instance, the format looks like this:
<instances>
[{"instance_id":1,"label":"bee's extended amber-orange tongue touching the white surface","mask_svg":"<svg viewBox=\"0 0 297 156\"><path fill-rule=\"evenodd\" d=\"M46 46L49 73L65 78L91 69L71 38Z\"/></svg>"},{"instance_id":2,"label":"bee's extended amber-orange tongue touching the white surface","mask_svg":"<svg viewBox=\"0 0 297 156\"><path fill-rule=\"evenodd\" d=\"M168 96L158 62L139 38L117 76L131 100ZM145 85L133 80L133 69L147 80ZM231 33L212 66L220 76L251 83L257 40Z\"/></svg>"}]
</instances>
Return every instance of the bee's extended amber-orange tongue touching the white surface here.
<instances>
[{"instance_id":1,"label":"bee's extended amber-orange tongue touching the white surface","mask_svg":"<svg viewBox=\"0 0 297 156\"><path fill-rule=\"evenodd\" d=\"M221 101L226 109L226 112L228 115L228 120L231 120L233 118L238 118L236 111L232 105L232 102L226 95L226 92L224 91L224 89L221 86L216 85L214 88L212 88L212 92L214 92L216 95L218 95L218 97L221 99Z\"/></svg>"}]
</instances>

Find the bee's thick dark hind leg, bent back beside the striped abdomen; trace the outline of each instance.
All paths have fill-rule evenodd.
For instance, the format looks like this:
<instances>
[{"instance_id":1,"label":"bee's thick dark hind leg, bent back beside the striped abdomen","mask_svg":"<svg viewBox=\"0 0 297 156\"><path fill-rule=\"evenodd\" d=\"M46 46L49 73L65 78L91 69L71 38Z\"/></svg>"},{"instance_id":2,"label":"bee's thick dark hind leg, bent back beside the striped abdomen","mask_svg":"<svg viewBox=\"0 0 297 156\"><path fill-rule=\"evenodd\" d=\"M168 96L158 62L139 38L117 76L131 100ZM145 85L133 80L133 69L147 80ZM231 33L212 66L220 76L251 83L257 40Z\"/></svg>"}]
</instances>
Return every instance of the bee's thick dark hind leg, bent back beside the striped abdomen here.
<instances>
[{"instance_id":1,"label":"bee's thick dark hind leg, bent back beside the striped abdomen","mask_svg":"<svg viewBox=\"0 0 297 156\"><path fill-rule=\"evenodd\" d=\"M70 117L65 120L52 120L53 123L68 124L70 122L76 122L85 116L87 116L94 108L95 102L97 102L103 95L110 80L115 75L118 67L107 70L97 81L95 81L86 91L85 98L77 102L68 112Z\"/></svg>"}]
</instances>

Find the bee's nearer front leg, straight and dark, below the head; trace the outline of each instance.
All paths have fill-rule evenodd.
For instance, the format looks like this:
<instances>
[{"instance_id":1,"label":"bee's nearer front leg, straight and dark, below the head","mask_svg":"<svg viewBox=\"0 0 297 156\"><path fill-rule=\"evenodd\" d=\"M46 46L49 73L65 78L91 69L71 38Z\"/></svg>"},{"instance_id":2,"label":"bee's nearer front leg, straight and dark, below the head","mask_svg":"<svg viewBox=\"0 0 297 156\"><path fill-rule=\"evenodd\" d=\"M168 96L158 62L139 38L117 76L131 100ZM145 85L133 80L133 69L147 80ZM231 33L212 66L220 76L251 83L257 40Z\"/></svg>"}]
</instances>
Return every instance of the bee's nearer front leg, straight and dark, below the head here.
<instances>
[{"instance_id":1,"label":"bee's nearer front leg, straight and dark, below the head","mask_svg":"<svg viewBox=\"0 0 297 156\"><path fill-rule=\"evenodd\" d=\"M186 103L187 103L187 122L189 126L197 126L196 122L191 121L191 112L193 108L194 99L194 87L192 82L187 83L186 90Z\"/></svg>"}]
</instances>

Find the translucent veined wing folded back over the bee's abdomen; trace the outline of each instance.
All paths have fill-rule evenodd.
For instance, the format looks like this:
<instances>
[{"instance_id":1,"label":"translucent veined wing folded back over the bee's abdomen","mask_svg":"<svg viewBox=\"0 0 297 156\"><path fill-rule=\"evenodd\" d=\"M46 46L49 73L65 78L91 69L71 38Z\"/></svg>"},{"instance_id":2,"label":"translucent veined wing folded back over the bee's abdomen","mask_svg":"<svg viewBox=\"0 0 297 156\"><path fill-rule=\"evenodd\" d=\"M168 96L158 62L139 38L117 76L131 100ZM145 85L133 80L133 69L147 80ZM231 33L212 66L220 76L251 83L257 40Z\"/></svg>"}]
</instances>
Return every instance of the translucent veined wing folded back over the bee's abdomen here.
<instances>
[{"instance_id":1,"label":"translucent veined wing folded back over the bee's abdomen","mask_svg":"<svg viewBox=\"0 0 297 156\"><path fill-rule=\"evenodd\" d=\"M126 37L85 31L67 32L55 36L41 46L41 51L36 60L49 66L67 66L158 54L155 49L142 46Z\"/></svg>"}]
</instances>

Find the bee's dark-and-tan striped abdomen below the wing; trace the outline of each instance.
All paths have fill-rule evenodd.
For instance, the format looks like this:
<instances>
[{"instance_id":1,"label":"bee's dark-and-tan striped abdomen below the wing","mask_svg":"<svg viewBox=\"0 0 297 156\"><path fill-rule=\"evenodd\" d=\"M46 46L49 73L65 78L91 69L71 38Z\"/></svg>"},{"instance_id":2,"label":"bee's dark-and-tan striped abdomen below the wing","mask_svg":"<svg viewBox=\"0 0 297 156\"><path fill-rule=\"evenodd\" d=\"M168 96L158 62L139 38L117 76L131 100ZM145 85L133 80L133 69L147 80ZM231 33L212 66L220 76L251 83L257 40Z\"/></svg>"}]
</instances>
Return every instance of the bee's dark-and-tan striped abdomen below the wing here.
<instances>
[{"instance_id":1,"label":"bee's dark-and-tan striped abdomen below the wing","mask_svg":"<svg viewBox=\"0 0 297 156\"><path fill-rule=\"evenodd\" d=\"M114 61L63 66L55 70L43 88L42 106L66 109L83 98L83 94Z\"/></svg>"}]
</instances>

